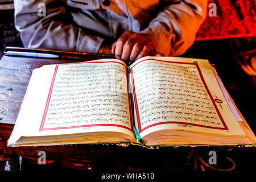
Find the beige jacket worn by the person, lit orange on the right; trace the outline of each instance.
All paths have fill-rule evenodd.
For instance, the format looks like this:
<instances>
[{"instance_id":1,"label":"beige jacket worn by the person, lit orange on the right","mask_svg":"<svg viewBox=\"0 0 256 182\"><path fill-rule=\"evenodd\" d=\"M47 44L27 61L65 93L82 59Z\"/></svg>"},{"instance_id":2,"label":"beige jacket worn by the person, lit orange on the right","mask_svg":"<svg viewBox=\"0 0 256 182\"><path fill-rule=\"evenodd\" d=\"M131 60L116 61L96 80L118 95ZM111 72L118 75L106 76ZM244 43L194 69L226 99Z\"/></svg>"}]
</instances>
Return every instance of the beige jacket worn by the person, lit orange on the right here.
<instances>
[{"instance_id":1,"label":"beige jacket worn by the person, lit orange on the right","mask_svg":"<svg viewBox=\"0 0 256 182\"><path fill-rule=\"evenodd\" d=\"M46 16L40 17L42 2ZM104 40L113 41L129 30L148 35L157 52L177 56L193 44L207 11L207 0L109 2L14 0L15 26L28 48L97 53Z\"/></svg>"}]
</instances>

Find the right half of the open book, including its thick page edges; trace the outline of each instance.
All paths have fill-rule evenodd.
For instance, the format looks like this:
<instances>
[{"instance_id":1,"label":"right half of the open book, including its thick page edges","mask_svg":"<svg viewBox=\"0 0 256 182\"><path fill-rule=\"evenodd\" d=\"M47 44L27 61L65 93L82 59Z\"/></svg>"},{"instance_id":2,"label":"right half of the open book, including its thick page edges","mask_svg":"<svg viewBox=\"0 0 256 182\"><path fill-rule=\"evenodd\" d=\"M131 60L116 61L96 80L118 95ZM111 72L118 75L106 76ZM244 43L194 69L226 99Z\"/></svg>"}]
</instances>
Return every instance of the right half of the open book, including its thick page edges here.
<instances>
[{"instance_id":1,"label":"right half of the open book, including its thick page edges","mask_svg":"<svg viewBox=\"0 0 256 182\"><path fill-rule=\"evenodd\" d=\"M148 57L130 73L135 126L146 144L255 143L207 60Z\"/></svg>"}]
</instances>

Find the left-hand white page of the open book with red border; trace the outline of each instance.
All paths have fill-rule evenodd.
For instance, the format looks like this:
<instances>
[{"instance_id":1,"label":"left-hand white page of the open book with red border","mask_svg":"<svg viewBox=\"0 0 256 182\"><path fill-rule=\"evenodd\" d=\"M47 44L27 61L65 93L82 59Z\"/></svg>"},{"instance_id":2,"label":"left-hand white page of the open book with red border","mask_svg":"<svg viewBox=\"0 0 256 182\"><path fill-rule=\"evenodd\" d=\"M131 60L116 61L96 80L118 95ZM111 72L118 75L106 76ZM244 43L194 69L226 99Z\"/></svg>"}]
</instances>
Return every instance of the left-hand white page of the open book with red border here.
<instances>
[{"instance_id":1,"label":"left-hand white page of the open book with red border","mask_svg":"<svg viewBox=\"0 0 256 182\"><path fill-rule=\"evenodd\" d=\"M118 60L36 69L18 117L26 127L22 135L116 131L134 137L127 89L126 65Z\"/></svg>"}]
</instances>

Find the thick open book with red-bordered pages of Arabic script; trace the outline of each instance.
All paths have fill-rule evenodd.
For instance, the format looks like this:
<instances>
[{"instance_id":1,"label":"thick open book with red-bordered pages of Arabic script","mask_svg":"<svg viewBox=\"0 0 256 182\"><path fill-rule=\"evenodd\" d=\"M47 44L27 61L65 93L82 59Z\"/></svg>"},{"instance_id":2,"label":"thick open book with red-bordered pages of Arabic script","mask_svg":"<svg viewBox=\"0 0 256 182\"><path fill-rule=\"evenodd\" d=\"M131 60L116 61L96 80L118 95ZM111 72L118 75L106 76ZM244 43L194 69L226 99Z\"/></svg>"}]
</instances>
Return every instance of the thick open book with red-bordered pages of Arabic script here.
<instances>
[{"instance_id":1,"label":"thick open book with red-bordered pages of Arabic script","mask_svg":"<svg viewBox=\"0 0 256 182\"><path fill-rule=\"evenodd\" d=\"M144 57L44 65L32 73L8 145L255 144L208 60Z\"/></svg>"}]
</instances>

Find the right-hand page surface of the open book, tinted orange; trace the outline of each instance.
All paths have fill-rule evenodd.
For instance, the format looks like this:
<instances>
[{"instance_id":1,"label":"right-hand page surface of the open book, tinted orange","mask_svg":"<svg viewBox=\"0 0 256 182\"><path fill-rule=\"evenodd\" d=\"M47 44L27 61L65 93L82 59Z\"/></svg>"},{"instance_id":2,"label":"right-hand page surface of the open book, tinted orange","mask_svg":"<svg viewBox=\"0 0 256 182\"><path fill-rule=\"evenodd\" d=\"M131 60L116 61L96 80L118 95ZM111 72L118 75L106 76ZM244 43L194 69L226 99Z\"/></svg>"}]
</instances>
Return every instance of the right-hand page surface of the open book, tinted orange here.
<instances>
[{"instance_id":1,"label":"right-hand page surface of the open book, tinted orange","mask_svg":"<svg viewBox=\"0 0 256 182\"><path fill-rule=\"evenodd\" d=\"M207 60L156 59L144 58L130 67L141 137L162 129L244 135Z\"/></svg>"}]
</instances>

